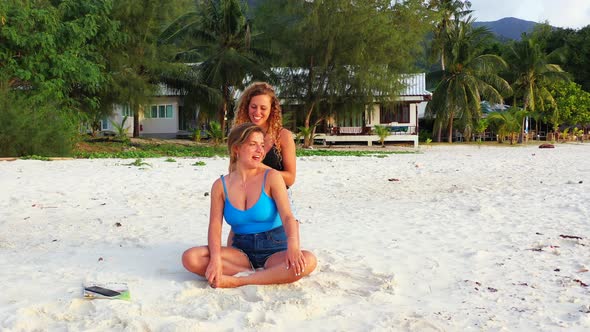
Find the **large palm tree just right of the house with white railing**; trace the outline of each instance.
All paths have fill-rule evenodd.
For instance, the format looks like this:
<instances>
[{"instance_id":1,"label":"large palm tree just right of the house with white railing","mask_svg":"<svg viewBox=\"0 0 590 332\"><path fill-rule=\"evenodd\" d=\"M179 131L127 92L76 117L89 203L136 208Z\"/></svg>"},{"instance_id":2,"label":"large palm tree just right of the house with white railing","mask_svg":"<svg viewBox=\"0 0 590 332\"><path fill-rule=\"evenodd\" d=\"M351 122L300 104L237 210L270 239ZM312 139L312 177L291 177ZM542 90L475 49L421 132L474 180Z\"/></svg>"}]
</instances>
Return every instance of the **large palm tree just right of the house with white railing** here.
<instances>
[{"instance_id":1,"label":"large palm tree just right of the house with white railing","mask_svg":"<svg viewBox=\"0 0 590 332\"><path fill-rule=\"evenodd\" d=\"M481 100L502 103L504 94L511 91L507 81L498 72L506 68L502 58L492 54L479 54L481 45L490 37L485 28L473 28L472 18L455 19L446 35L446 69L434 73L440 79L428 104L435 114L438 141L441 129L446 126L448 141L453 139L453 121L458 118L468 135L481 118Z\"/></svg>"}]
</instances>

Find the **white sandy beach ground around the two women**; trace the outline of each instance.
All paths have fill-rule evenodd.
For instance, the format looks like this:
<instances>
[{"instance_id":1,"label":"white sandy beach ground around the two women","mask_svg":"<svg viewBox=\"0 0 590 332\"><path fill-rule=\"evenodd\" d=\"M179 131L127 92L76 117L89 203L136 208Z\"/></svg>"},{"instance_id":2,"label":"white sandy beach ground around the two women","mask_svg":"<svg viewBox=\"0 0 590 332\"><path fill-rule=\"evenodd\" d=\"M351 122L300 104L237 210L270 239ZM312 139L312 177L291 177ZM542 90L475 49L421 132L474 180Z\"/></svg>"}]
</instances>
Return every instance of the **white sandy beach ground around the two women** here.
<instances>
[{"instance_id":1,"label":"white sandy beach ground around the two women","mask_svg":"<svg viewBox=\"0 0 590 332\"><path fill-rule=\"evenodd\" d=\"M590 329L589 144L299 158L318 269L231 290L180 264L227 159L132 161L0 162L0 330ZM82 299L87 281L132 301Z\"/></svg>"}]
</instances>

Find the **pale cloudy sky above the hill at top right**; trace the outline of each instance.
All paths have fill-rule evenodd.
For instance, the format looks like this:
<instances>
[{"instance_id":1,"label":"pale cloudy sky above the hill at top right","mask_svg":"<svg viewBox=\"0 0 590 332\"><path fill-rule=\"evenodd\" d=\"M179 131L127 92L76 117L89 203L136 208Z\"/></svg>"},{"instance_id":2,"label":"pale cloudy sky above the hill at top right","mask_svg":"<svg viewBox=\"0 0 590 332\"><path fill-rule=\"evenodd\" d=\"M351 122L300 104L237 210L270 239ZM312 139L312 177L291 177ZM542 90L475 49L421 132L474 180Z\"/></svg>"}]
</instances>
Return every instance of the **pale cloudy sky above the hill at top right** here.
<instances>
[{"instance_id":1,"label":"pale cloudy sky above the hill at top right","mask_svg":"<svg viewBox=\"0 0 590 332\"><path fill-rule=\"evenodd\" d=\"M516 17L561 28L590 25L590 0L471 0L476 21Z\"/></svg>"}]
</instances>

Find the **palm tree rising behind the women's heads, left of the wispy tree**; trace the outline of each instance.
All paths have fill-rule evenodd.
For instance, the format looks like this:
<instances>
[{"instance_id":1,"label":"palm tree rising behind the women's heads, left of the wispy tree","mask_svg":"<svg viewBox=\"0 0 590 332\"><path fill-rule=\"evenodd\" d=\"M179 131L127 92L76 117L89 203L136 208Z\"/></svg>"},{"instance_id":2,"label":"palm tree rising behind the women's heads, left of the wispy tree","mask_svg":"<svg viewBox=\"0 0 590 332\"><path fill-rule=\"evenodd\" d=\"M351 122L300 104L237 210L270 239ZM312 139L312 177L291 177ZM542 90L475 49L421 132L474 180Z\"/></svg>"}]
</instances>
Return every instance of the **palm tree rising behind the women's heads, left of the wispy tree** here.
<instances>
[{"instance_id":1,"label":"palm tree rising behind the women's heads, left of the wispy tree","mask_svg":"<svg viewBox=\"0 0 590 332\"><path fill-rule=\"evenodd\" d=\"M188 45L178 58L198 63L197 80L221 95L218 119L225 133L226 117L246 77L264 79L264 51L251 47L251 23L239 0L196 1L196 11L179 17L162 34L166 43ZM212 98L214 100L215 98Z\"/></svg>"}]
</instances>

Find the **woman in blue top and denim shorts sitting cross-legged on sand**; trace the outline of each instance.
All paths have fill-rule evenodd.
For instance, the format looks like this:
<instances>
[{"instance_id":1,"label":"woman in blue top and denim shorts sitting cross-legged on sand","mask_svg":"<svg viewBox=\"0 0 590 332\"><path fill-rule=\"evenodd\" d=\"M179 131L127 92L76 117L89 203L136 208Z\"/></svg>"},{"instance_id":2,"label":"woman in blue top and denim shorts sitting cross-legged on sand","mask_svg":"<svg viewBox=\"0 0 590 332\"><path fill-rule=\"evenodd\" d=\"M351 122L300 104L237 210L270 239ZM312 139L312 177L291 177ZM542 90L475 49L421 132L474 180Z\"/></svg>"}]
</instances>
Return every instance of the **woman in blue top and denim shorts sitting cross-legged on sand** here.
<instances>
[{"instance_id":1,"label":"woman in blue top and denim shorts sitting cross-legged on sand","mask_svg":"<svg viewBox=\"0 0 590 332\"><path fill-rule=\"evenodd\" d=\"M317 261L299 247L285 182L262 166L262 129L252 123L235 127L228 149L229 174L211 188L209 245L185 251L182 264L220 288L290 283L310 274ZM235 233L231 247L221 246L223 218ZM236 276L247 271L254 272Z\"/></svg>"}]
</instances>

